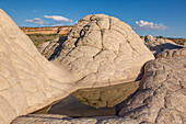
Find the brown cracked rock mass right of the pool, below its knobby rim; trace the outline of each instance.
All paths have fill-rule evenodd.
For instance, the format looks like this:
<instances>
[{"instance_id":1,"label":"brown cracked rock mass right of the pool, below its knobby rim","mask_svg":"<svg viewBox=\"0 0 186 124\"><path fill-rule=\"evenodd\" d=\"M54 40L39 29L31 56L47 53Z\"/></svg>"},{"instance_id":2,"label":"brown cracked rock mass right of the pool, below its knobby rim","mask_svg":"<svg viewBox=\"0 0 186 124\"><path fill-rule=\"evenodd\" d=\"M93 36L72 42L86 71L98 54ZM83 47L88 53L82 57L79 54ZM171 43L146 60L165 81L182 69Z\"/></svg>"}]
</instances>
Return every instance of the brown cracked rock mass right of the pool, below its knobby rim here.
<instances>
[{"instance_id":1,"label":"brown cracked rock mass right of the pool, below its knobby rim","mask_svg":"<svg viewBox=\"0 0 186 124\"><path fill-rule=\"evenodd\" d=\"M166 57L147 64L139 92L119 116L158 124L186 123L186 57Z\"/></svg>"}]
</instances>

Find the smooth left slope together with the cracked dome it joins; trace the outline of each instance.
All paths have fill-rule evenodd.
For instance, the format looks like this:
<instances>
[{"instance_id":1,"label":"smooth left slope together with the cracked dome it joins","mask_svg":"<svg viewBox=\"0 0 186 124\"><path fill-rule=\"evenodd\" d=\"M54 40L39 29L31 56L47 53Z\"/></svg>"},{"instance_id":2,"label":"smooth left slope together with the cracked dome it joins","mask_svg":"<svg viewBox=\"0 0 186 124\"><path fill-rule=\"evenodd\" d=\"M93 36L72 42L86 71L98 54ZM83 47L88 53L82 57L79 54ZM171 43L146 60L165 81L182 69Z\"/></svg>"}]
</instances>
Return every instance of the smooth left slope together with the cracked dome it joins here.
<instances>
[{"instance_id":1,"label":"smooth left slope together with the cracked dome it joins","mask_svg":"<svg viewBox=\"0 0 186 124\"><path fill-rule=\"evenodd\" d=\"M92 42L88 42L89 37L86 37L86 35L94 37L94 33L96 34L96 32L101 33L101 31L91 30L92 27L98 26L94 26L95 23L92 23L100 19L98 16L101 19L105 16L105 19L103 18L103 20L106 20L104 23L108 23L109 27L107 27L102 21L97 21L101 29L105 29L102 33L107 32L103 33L102 49L100 49L101 41L95 42L93 40ZM81 32L81 36L84 35L84 38L82 37L82 42L72 44L72 41L75 40L74 35L77 35L73 32L75 32L78 27L81 27L81 24L86 23L89 18L94 20L90 23L93 24L93 26L90 25L89 27L89 24L85 24L88 32L84 31L84 34L82 34L83 31ZM114 84L114 81L123 80L117 79L119 77L125 77L124 80L129 80L130 78L135 80L140 72L141 66L147 60L153 59L153 56L127 24L119 22L120 27L118 27L116 25L117 22L119 22L117 19L106 15L92 15L82 19L68 35L69 43L66 42L62 44L65 50L61 52L65 53L71 49L65 58L67 63L69 63L68 59L75 57L77 60L70 60L71 64L63 67L62 64L66 63L65 59L60 57L60 60L62 60L60 68L58 68L47 61L36 50L32 41L0 10L0 123L8 124L14 117L39 110L56 100L67 97L79 88ZM120 29L123 29L121 31L126 30L124 35L119 33ZM113 44L109 42L113 40L109 37L109 34L114 32L117 32L115 33L117 36L115 37L116 40L114 38ZM126 37L124 38L124 43L121 42L123 37ZM116 41L119 42L119 44ZM79 46L80 43L84 45ZM95 46L93 45L94 47L91 47L92 43L95 43ZM109 43L113 45L109 45ZM74 48L73 46L68 46L68 44L78 46ZM140 48L138 48L139 46ZM128 48L128 50L124 50L126 48ZM65 54L61 56L65 56ZM130 60L130 58L136 59ZM95 59L95 61L93 59ZM125 60L128 61L124 63ZM132 66L132 64L136 65ZM70 68L73 75L69 72L66 67ZM119 70L119 68L121 68L121 70ZM112 72L109 72L109 70L112 70ZM123 74L124 70L125 72ZM78 75L75 75L75 72L78 72ZM125 74L126 76L124 76ZM112 75L113 77L108 80L108 77ZM97 83L100 81L101 83Z\"/></svg>"}]
</instances>

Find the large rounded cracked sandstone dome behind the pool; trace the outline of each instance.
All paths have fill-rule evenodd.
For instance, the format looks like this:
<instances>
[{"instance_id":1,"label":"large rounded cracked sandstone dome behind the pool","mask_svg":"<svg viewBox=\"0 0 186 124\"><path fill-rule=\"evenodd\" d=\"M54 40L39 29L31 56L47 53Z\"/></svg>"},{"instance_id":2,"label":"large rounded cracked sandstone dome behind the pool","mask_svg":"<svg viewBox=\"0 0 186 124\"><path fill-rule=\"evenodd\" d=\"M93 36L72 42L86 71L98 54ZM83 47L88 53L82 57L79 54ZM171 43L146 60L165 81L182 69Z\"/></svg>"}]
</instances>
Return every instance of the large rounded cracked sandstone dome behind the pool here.
<instances>
[{"instance_id":1,"label":"large rounded cracked sandstone dome behind the pool","mask_svg":"<svg viewBox=\"0 0 186 124\"><path fill-rule=\"evenodd\" d=\"M141 67L153 58L128 24L95 14L81 19L49 60L81 77L78 83L104 87L140 78Z\"/></svg>"}]
</instances>

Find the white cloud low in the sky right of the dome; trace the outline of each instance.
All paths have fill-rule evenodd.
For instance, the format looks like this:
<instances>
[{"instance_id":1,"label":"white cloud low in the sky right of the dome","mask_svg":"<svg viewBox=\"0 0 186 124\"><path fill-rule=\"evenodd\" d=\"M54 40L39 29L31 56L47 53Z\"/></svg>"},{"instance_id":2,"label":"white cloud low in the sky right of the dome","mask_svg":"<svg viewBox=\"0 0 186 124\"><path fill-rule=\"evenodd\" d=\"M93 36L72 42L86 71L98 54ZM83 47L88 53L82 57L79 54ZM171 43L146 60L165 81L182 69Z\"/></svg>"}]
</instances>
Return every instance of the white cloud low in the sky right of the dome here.
<instances>
[{"instance_id":1,"label":"white cloud low in the sky right of the dome","mask_svg":"<svg viewBox=\"0 0 186 124\"><path fill-rule=\"evenodd\" d=\"M164 26L163 24L156 24L153 22L148 21L136 21L136 25L133 26L133 30L140 30L140 31L159 31L159 30L166 30L167 26Z\"/></svg>"}]
</instances>

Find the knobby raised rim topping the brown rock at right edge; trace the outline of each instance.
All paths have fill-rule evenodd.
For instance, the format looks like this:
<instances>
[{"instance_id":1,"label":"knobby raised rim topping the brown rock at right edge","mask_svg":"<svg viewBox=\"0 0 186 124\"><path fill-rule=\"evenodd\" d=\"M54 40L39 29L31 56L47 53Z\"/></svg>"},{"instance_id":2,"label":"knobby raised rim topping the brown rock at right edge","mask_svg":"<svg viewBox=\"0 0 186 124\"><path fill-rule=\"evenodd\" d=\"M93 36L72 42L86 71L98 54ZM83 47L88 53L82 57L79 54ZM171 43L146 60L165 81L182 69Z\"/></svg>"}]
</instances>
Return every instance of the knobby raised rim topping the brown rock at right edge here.
<instances>
[{"instance_id":1,"label":"knobby raised rim topping the brown rock at right edge","mask_svg":"<svg viewBox=\"0 0 186 124\"><path fill-rule=\"evenodd\" d=\"M156 55L156 58L162 57L179 57L184 56L186 57L186 48L179 48L179 49L171 49L171 50L163 50Z\"/></svg>"}]
</instances>

